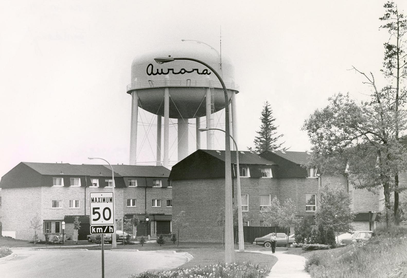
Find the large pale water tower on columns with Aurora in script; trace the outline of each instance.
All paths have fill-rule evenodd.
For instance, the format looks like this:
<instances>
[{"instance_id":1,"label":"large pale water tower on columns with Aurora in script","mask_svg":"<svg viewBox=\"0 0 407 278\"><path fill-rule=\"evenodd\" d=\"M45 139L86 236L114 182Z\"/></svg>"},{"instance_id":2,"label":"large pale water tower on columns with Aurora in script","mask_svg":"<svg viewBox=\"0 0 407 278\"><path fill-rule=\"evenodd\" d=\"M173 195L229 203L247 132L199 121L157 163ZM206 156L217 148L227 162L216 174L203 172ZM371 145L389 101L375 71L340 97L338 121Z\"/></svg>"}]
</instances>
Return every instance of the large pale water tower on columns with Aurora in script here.
<instances>
[{"instance_id":1,"label":"large pale water tower on columns with Aurora in script","mask_svg":"<svg viewBox=\"0 0 407 278\"><path fill-rule=\"evenodd\" d=\"M135 165L137 152L138 109L157 115L157 165L168 168L169 118L177 119L178 161L188 156L188 123L196 120L197 149L200 149L200 117L206 117L208 128L213 127L211 115L225 108L222 85L208 68L194 61L176 60L158 64L156 57L168 56L195 58L208 63L219 74L228 89L230 129L237 139L236 94L239 87L234 83L234 69L227 57L220 57L214 48L196 41L179 42L160 50L138 55L131 64L131 84L127 93L131 95L130 162ZM162 117L164 117L164 147L161 148ZM213 131L206 132L207 149L213 149ZM161 158L161 150L163 158ZM162 164L161 164L162 162Z\"/></svg>"}]
</instances>

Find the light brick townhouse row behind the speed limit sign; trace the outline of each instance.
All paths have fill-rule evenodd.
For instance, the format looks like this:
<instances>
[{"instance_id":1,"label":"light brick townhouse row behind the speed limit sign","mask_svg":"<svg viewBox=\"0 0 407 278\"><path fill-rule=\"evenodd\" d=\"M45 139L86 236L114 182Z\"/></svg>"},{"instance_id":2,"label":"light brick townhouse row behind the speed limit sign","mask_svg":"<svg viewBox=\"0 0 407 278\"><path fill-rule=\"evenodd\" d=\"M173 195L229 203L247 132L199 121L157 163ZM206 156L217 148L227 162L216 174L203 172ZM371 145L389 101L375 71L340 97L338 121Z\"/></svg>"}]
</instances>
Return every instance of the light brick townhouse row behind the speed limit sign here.
<instances>
[{"instance_id":1,"label":"light brick townhouse row behind the speed limit sign","mask_svg":"<svg viewBox=\"0 0 407 278\"><path fill-rule=\"evenodd\" d=\"M163 166L113 165L115 217L137 215L150 221L141 223L141 234L171 232L172 189L170 171ZM79 239L90 233L90 192L113 190L110 166L69 163L21 162L0 180L2 188L2 235L16 239L33 239L31 221L38 217L44 234L62 233L73 238L74 218L79 216Z\"/></svg>"}]
</instances>

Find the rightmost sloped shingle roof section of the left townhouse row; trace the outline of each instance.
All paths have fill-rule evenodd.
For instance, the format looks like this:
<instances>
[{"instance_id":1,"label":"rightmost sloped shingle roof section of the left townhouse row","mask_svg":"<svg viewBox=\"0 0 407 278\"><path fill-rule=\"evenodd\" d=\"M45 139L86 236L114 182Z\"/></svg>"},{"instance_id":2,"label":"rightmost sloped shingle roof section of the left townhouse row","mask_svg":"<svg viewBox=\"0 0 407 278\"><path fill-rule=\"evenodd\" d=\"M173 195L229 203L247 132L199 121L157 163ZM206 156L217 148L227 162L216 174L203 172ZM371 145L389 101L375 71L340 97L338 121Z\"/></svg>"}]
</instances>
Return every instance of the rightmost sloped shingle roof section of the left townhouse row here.
<instances>
[{"instance_id":1,"label":"rightmost sloped shingle roof section of the left townhouse row","mask_svg":"<svg viewBox=\"0 0 407 278\"><path fill-rule=\"evenodd\" d=\"M109 165L104 166L110 170ZM112 165L112 167L113 171L122 177L169 177L171 172L164 166Z\"/></svg>"}]
</instances>

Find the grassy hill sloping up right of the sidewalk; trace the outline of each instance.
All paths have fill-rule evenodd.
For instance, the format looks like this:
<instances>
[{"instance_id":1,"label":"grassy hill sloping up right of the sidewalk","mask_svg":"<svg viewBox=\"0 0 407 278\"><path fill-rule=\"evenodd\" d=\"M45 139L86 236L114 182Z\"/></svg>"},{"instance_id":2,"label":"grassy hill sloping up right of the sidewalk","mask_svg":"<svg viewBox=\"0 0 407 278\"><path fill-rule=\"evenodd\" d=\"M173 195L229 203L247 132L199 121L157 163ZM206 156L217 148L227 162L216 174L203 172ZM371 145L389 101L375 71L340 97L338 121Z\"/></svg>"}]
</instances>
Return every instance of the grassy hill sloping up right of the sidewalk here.
<instances>
[{"instance_id":1,"label":"grassy hill sloping up right of the sidewalk","mask_svg":"<svg viewBox=\"0 0 407 278\"><path fill-rule=\"evenodd\" d=\"M312 278L407 278L407 227L378 229L367 242L300 255Z\"/></svg>"}]
</instances>

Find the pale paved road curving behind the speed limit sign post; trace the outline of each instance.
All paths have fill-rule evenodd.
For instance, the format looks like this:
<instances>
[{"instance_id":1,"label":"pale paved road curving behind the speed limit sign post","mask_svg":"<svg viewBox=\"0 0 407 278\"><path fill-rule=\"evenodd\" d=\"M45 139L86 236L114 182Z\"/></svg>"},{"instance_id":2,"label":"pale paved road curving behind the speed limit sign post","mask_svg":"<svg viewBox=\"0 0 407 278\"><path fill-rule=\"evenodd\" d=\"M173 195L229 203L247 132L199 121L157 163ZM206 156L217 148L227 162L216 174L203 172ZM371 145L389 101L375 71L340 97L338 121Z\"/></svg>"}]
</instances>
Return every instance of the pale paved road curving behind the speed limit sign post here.
<instances>
[{"instance_id":1,"label":"pale paved road curving behind the speed limit sign post","mask_svg":"<svg viewBox=\"0 0 407 278\"><path fill-rule=\"evenodd\" d=\"M101 250L15 249L17 256L0 262L1 278L101 278ZM178 267L185 253L105 250L105 278L127 278L146 270Z\"/></svg>"}]
</instances>

